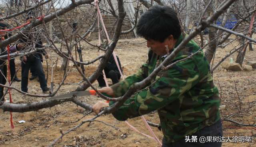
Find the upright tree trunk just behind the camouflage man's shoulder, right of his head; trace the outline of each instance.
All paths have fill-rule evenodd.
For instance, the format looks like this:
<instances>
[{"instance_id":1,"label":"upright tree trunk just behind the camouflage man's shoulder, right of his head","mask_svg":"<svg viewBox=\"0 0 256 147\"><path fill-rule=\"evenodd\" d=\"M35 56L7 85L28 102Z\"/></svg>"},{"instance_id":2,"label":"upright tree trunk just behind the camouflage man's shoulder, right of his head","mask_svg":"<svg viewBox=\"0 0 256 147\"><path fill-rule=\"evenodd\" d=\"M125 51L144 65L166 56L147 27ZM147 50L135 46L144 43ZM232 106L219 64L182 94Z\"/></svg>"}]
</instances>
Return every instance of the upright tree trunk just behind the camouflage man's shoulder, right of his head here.
<instances>
[{"instance_id":1,"label":"upright tree trunk just behind the camouflage man's shoulder, right of his head","mask_svg":"<svg viewBox=\"0 0 256 147\"><path fill-rule=\"evenodd\" d=\"M206 1L206 4L209 3L210 0ZM211 13L213 12L212 10L213 4L210 4L210 6L207 8L206 10L206 18L209 18ZM216 31L217 29L214 27L208 27L208 33L209 33L209 42L212 41L215 37L216 37ZM208 63L210 63L212 61L212 57L214 55L215 49L216 49L216 44L217 44L217 39L215 39L214 41L212 41L209 45L208 48L205 51L205 56L206 59L208 61Z\"/></svg>"}]
</instances>

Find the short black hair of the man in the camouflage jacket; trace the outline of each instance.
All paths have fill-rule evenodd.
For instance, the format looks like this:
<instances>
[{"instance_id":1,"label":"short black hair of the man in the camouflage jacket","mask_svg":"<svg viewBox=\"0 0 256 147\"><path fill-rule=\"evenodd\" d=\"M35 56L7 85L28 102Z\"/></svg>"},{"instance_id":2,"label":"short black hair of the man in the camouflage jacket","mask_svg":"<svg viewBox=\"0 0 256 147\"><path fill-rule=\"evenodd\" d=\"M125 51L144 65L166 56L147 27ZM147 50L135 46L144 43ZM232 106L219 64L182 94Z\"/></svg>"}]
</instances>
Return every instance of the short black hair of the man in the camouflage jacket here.
<instances>
[{"instance_id":1,"label":"short black hair of the man in the camouflage jacket","mask_svg":"<svg viewBox=\"0 0 256 147\"><path fill-rule=\"evenodd\" d=\"M177 13L169 6L154 5L140 17L137 34L161 43L170 35L178 39L181 34L178 19Z\"/></svg>"}]
</instances>

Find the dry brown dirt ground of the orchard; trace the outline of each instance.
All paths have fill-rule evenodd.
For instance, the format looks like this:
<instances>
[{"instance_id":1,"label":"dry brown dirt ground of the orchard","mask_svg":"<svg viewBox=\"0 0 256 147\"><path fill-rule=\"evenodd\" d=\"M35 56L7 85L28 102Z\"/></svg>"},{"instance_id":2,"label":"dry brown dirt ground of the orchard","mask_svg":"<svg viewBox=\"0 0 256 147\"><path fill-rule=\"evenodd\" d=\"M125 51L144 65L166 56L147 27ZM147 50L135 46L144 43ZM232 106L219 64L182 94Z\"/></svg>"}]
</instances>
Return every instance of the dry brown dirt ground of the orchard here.
<instances>
[{"instance_id":1,"label":"dry brown dirt ground of the orchard","mask_svg":"<svg viewBox=\"0 0 256 147\"><path fill-rule=\"evenodd\" d=\"M253 37L255 38L255 37ZM147 49L144 39L122 39L118 42L118 45L115 49L116 55L120 58L122 69L124 70L124 77L132 75L140 68L140 66L146 61ZM198 38L196 38L198 41ZM96 44L97 41L91 41L91 43ZM131 44L131 43L140 43L140 44ZM89 47L88 45L82 44L84 49L82 51L84 61L90 61L99 55L99 52L94 47ZM214 63L217 63L224 55L229 53L230 49L233 48L233 45L228 45L225 49L218 49L216 52L216 57ZM254 47L254 45L253 45ZM256 47L254 47L256 50ZM56 61L56 55L53 51L48 51L48 54L52 58L52 61ZM236 59L237 53L231 56L234 60ZM246 56L244 59L244 65L246 61L255 61L256 51L246 51ZM229 59L226 59L227 61ZM58 66L54 69L53 72L53 81L54 88L58 87L58 84L63 78L63 71L60 70L60 65L62 63L61 58L58 59ZM85 66L85 75L90 76L96 69L99 62L97 61L93 65ZM16 59L16 69L18 69L20 61ZM51 65L50 60L48 60L48 65ZM46 73L46 62L43 63L44 71ZM68 74L65 84L63 85L57 95L65 94L72 92L79 85L77 82L82 80L82 76L78 74L76 69L72 67L70 63L70 73ZM254 123L256 122L255 112L255 100L256 100L256 71L255 69L250 72L246 71L225 71L219 66L214 71L214 84L218 86L221 96L221 105L226 105L224 110L221 110L221 117L224 118L236 111L239 110L240 104L241 109L247 108L250 105L250 109L243 111L242 113L233 116L231 120L240 122L240 123ZM18 71L18 77L20 78L20 71ZM49 78L48 86L50 86L52 69L49 67ZM108 80L111 83L111 80ZM98 83L94 82L94 86L97 86ZM235 84L237 92L235 90ZM15 82L14 85L17 88L20 88L20 83ZM37 80L29 81L28 92L32 94L42 94L40 89L40 84ZM239 98L240 102L239 102ZM44 100L45 98L35 98L30 96L25 96L20 94L15 90L11 90L12 100L15 104L23 104L28 102L36 102ZM254 96L252 96L254 95ZM6 95L6 98L9 96ZM96 96L86 96L80 97L81 100L88 104L95 104L101 98ZM249 102L248 102L249 101ZM60 136L60 130L63 132L68 129L76 126L79 122L76 123L62 123L63 121L76 121L78 118L81 118L86 114L86 110L83 108L77 107L72 102L66 102L57 106L47 109L42 109L35 112L26 112L26 113L12 113L14 129L10 127L10 113L4 112L0 115L0 145L1 147L44 147L50 144L54 139ZM89 114L85 119L92 118L94 114ZM156 112L144 115L146 120L159 123L159 118ZM25 123L19 123L18 120L24 120ZM82 125L80 128L71 131L65 135L62 140L59 140L55 147L160 147L155 141L149 139L144 135L136 133L132 128L130 128L126 122L120 122L114 119L112 114L106 114L98 118L106 123L110 123L118 127L121 132L117 131L113 127L105 125L100 122L92 122L90 125L88 123ZM128 122L136 127L139 131L150 134L146 129L142 119L140 117L129 119ZM227 127L223 126L224 136L232 138L233 136L250 136L256 133L256 130L250 129L251 127L246 128L242 125L237 125L230 122L224 122L225 125L232 126ZM237 128L233 128L237 127ZM238 128L239 127L239 128ZM242 129L243 128L243 129ZM162 140L162 132L159 131L156 127L152 127L154 133L158 139ZM245 133L239 133L245 132ZM232 140L232 139L231 139ZM252 137L252 142L250 143L222 143L223 147L256 147L254 144L255 137Z\"/></svg>"}]
</instances>

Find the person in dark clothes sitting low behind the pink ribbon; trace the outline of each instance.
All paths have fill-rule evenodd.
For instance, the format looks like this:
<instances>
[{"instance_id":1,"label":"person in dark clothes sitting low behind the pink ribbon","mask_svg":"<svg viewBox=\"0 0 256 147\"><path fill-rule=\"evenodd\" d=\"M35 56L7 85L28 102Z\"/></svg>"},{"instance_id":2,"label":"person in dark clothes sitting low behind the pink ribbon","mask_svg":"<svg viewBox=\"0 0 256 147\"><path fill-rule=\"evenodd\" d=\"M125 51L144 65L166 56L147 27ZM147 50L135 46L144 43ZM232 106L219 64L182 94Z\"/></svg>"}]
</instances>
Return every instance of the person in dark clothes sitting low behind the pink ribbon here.
<instances>
[{"instance_id":1,"label":"person in dark clothes sitting low behind the pink ribbon","mask_svg":"<svg viewBox=\"0 0 256 147\"><path fill-rule=\"evenodd\" d=\"M116 58L117 58L120 70L123 73L120 60L117 56L116 56ZM113 55L111 55L110 59L108 60L108 64L104 68L104 72L106 74L106 78L110 78L112 80L113 84L116 84L119 82L119 79L121 78L121 74L119 73L119 70L118 70L118 67L116 65L116 61L115 61ZM98 80L100 87L106 86L106 83L105 83L104 77L103 77L103 73L100 74L100 76L97 78L97 80Z\"/></svg>"}]
</instances>

